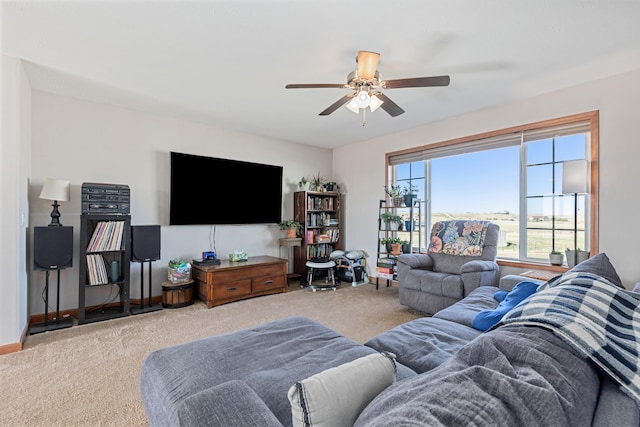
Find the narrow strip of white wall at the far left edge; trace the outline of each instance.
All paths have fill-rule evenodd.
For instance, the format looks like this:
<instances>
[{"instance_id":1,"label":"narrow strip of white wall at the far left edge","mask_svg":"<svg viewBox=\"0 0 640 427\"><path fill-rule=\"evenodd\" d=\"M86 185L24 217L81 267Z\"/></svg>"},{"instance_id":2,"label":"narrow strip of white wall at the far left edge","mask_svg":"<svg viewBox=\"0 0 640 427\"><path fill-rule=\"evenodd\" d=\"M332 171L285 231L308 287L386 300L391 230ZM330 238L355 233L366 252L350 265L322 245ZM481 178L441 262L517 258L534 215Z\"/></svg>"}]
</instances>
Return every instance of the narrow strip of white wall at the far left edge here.
<instances>
[{"instance_id":1,"label":"narrow strip of white wall at the far left edge","mask_svg":"<svg viewBox=\"0 0 640 427\"><path fill-rule=\"evenodd\" d=\"M21 62L2 55L2 146L0 151L0 345L17 344L26 333L27 189L30 163L30 86Z\"/></svg>"}]
</instances>

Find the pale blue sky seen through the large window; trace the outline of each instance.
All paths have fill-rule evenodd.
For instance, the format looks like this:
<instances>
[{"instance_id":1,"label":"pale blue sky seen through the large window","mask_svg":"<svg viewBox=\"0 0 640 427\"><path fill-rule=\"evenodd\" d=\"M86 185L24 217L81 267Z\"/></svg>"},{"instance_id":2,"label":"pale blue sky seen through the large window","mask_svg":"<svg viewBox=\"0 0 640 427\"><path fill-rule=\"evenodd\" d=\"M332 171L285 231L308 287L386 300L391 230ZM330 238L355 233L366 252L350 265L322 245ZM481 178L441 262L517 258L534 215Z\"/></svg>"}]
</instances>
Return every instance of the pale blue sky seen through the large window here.
<instances>
[{"instance_id":1,"label":"pale blue sky seen through the large window","mask_svg":"<svg viewBox=\"0 0 640 427\"><path fill-rule=\"evenodd\" d=\"M527 143L527 195L549 195L562 188L562 163L555 171L549 164L584 158L585 140L582 134ZM554 153L555 151L555 153ZM555 158L554 158L555 157ZM520 147L512 146L480 151L431 161L432 212L519 212ZM424 176L422 162L398 166L398 179ZM555 175L555 176L554 176ZM424 185L419 184L420 197ZM552 213L550 198L528 198L528 213ZM573 212L573 198L556 199L556 212Z\"/></svg>"}]
</instances>

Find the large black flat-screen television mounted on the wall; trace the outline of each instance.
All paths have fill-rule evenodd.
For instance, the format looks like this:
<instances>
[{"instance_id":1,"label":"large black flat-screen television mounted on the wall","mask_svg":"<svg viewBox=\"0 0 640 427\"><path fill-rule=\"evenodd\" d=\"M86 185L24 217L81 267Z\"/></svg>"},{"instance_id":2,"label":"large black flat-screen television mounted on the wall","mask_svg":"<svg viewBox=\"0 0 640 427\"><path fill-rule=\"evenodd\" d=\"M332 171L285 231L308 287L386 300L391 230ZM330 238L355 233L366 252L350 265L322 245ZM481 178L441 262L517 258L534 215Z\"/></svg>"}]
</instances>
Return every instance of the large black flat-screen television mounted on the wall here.
<instances>
[{"instance_id":1,"label":"large black flat-screen television mounted on the wall","mask_svg":"<svg viewBox=\"0 0 640 427\"><path fill-rule=\"evenodd\" d=\"M171 152L170 225L277 224L282 166Z\"/></svg>"}]
</instances>

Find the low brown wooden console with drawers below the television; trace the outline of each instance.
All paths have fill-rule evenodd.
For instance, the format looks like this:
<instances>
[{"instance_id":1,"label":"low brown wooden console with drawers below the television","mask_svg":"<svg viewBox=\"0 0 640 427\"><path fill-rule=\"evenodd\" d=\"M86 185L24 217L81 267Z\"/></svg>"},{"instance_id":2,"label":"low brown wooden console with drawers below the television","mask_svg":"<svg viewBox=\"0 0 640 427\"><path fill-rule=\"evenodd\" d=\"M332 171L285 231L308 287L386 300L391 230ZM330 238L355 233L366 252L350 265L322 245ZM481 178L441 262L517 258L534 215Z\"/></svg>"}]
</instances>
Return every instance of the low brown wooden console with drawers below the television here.
<instances>
[{"instance_id":1,"label":"low brown wooden console with drawers below the television","mask_svg":"<svg viewBox=\"0 0 640 427\"><path fill-rule=\"evenodd\" d=\"M271 256L247 261L221 260L218 265L193 265L198 298L207 308L261 295L287 292L287 260Z\"/></svg>"}]
</instances>

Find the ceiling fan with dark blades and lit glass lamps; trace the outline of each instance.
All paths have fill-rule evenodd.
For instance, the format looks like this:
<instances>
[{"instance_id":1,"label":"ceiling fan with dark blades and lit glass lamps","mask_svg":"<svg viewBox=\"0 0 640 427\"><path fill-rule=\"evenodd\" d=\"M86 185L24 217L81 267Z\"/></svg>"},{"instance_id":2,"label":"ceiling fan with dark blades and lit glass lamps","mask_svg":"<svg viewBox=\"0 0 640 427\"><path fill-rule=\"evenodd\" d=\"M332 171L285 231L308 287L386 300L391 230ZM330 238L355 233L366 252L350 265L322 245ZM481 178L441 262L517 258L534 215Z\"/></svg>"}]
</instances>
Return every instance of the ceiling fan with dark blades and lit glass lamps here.
<instances>
[{"instance_id":1,"label":"ceiling fan with dark blades and lit glass lamps","mask_svg":"<svg viewBox=\"0 0 640 427\"><path fill-rule=\"evenodd\" d=\"M356 57L358 68L347 76L347 83L301 83L288 84L286 89L312 89L312 88L341 88L351 89L351 92L338 99L325 110L320 112L320 116L328 116L341 106L345 105L354 113L359 113L369 107L371 111L382 108L391 117L404 113L398 104L393 102L381 92L381 89L399 89L407 87L431 87L448 86L449 76L434 77L414 77L408 79L381 80L377 70L380 54L361 50ZM364 122L363 122L364 125Z\"/></svg>"}]
</instances>

